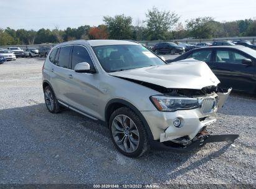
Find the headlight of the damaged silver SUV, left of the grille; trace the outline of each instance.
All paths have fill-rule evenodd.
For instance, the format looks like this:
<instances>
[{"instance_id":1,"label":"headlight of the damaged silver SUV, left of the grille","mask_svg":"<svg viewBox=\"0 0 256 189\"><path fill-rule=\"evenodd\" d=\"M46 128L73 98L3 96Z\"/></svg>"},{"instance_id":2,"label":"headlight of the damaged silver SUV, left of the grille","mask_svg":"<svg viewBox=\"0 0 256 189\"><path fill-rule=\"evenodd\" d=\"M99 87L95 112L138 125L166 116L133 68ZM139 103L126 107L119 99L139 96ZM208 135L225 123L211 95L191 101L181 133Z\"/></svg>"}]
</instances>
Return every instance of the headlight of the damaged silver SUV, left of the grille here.
<instances>
[{"instance_id":1,"label":"headlight of the damaged silver SUV, left of the grille","mask_svg":"<svg viewBox=\"0 0 256 189\"><path fill-rule=\"evenodd\" d=\"M177 111L179 109L194 109L199 107L197 98L156 95L151 96L150 99L159 111Z\"/></svg>"}]
</instances>

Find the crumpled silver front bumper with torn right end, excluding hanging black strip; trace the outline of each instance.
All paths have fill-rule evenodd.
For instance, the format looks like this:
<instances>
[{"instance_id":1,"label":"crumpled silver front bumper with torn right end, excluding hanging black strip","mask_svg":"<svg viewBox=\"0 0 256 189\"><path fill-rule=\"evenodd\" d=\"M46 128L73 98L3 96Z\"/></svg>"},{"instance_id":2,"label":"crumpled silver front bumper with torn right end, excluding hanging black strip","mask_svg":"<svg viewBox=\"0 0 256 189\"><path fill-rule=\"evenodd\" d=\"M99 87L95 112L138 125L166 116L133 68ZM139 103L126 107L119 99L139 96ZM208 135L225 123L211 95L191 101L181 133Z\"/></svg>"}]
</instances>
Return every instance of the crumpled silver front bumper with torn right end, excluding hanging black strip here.
<instances>
[{"instance_id":1,"label":"crumpled silver front bumper with torn right end, excluding hanging black strip","mask_svg":"<svg viewBox=\"0 0 256 189\"><path fill-rule=\"evenodd\" d=\"M214 94L212 96L197 96L199 101L204 101L204 106L196 109L179 110L174 112L162 112L162 111L141 111L144 118L148 122L148 126L153 135L154 141L159 142L176 142L178 144L187 144L192 141L197 134L204 131L207 126L216 122L216 119L212 118L217 112L218 108L221 109L225 100L228 98L230 91ZM216 99L214 106L212 106L208 99ZM219 103L217 103L219 101ZM209 105L209 110L205 111L206 105ZM212 109L211 109L212 106ZM179 118L181 124L179 127L174 126L174 119Z\"/></svg>"}]
</instances>

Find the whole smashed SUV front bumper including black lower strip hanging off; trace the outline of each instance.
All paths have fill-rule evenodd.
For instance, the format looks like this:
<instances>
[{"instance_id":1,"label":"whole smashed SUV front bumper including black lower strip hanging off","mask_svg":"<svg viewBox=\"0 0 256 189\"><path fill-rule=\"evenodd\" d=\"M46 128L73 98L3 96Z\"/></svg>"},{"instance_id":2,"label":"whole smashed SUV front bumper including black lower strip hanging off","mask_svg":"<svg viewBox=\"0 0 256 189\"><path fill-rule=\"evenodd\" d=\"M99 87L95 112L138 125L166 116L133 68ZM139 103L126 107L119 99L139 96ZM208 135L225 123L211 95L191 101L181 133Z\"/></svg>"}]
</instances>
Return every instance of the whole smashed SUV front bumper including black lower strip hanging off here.
<instances>
[{"instance_id":1,"label":"whole smashed SUV front bumper including black lower strip hanging off","mask_svg":"<svg viewBox=\"0 0 256 189\"><path fill-rule=\"evenodd\" d=\"M163 145L172 144L173 146L174 144L181 149L190 149L207 142L234 141L238 137L237 134L212 136L206 132L206 127L216 122L212 116L222 108L230 91L231 89L224 93L219 92L218 95L198 96L198 100L204 103L196 109L175 112L142 111L141 113L149 124L154 141ZM214 101L214 106L211 100ZM174 126L174 120L177 118L181 121L179 127Z\"/></svg>"}]
</instances>

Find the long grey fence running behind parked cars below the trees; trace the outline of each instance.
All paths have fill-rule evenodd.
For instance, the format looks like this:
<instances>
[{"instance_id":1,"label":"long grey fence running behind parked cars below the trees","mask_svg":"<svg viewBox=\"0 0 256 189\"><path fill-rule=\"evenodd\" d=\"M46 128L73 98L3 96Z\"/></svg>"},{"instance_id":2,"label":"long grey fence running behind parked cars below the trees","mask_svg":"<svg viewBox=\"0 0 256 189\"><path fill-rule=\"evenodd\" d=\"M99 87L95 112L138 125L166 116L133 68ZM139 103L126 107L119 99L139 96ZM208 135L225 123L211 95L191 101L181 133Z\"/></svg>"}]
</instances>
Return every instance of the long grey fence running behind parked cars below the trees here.
<instances>
[{"instance_id":1,"label":"long grey fence running behind parked cars below the trees","mask_svg":"<svg viewBox=\"0 0 256 189\"><path fill-rule=\"evenodd\" d=\"M143 44L146 45L155 45L159 42L181 42L184 44L196 44L201 42L213 42L217 40L248 40L252 42L252 44L256 43L256 36L255 37L221 37L221 38L214 38L214 39L173 39L173 40L143 40L140 41ZM0 48L7 48L7 47L20 47L21 49L26 48L39 48L40 46L49 46L54 47L56 44L35 44L35 45L6 45L6 46L0 46Z\"/></svg>"}]
</instances>

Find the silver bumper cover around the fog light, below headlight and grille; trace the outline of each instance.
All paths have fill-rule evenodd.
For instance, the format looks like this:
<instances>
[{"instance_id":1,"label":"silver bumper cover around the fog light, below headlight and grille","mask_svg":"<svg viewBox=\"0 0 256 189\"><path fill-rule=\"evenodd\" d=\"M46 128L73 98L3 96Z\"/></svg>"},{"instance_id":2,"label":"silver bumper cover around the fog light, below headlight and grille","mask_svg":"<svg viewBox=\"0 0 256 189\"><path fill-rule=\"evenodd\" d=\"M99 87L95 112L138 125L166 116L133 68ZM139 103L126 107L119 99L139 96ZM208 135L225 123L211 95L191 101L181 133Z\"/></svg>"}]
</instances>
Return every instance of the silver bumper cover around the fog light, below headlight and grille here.
<instances>
[{"instance_id":1,"label":"silver bumper cover around the fog light, below headlight and grille","mask_svg":"<svg viewBox=\"0 0 256 189\"><path fill-rule=\"evenodd\" d=\"M216 121L209 118L212 114L202 114L199 108L180 110L175 112L142 111L153 134L154 140L175 141L181 137L186 137L186 141L193 139L197 133L205 126ZM175 118L181 120L181 126L175 127Z\"/></svg>"}]
</instances>

